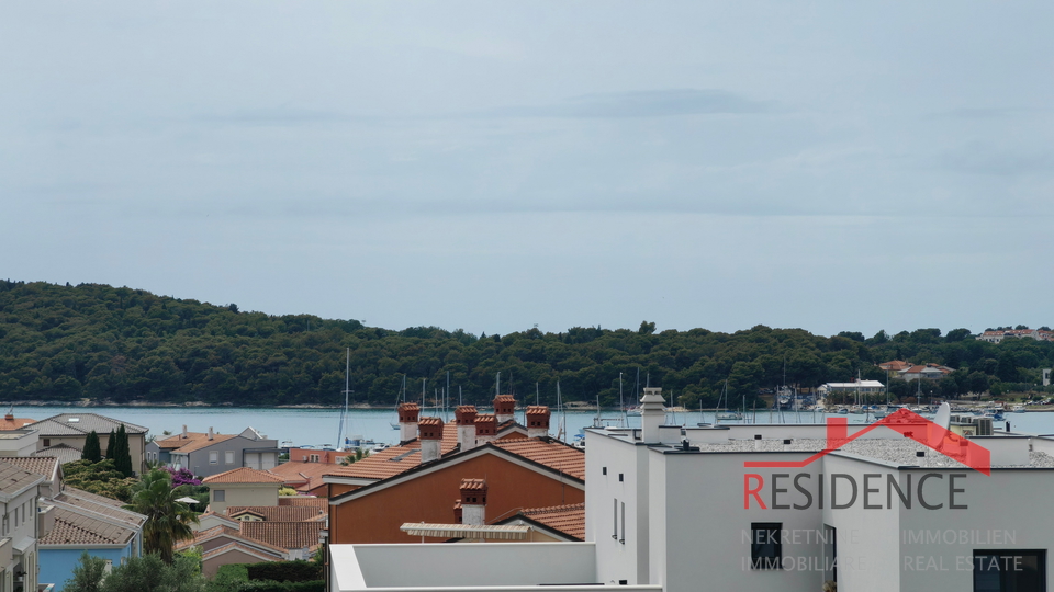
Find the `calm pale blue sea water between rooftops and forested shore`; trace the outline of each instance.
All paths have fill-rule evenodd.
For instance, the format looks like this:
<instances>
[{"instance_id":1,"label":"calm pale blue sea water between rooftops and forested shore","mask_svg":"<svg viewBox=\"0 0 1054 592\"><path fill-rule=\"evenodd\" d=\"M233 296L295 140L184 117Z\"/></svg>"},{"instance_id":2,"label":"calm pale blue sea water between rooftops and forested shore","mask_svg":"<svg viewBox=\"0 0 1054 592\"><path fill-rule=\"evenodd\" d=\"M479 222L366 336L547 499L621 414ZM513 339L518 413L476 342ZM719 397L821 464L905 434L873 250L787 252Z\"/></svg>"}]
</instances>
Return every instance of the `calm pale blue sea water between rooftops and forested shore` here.
<instances>
[{"instance_id":1,"label":"calm pale blue sea water between rooftops and forested shore","mask_svg":"<svg viewBox=\"0 0 1054 592\"><path fill-rule=\"evenodd\" d=\"M120 421L142 425L150 430L152 435L161 436L165 431L177 433L183 425L191 432L206 432L212 428L217 433L238 433L247 426L256 428L281 442L283 445L333 445L337 442L337 431L340 423L340 411L337 409L258 409L234 407L16 407L15 417L45 419L58 413L99 413ZM423 411L423 415L444 417L441 411L431 408ZM391 424L395 422L395 411L391 409L352 409L349 411L350 425L345 433L361 435L374 442L395 443L399 432ZM557 425L561 414L553 413L550 433L557 434ZM581 428L593 424L596 411L568 411L565 425L568 440ZM863 423L864 415L840 415L849 418L851 423ZM601 413L606 424L618 424L620 415L615 410ZM771 419L770 419L771 418ZM822 413L803 411L800 413L784 412L781 418L778 411L759 411L758 423L811 423L822 422ZM1027 412L1007 413L1007 421L1016 432L1033 434L1054 434L1054 413ZM448 411L446 419L452 420L453 412ZM524 423L523 411L516 414L517 421ZM639 417L626 418L630 428L640 426ZM698 411L692 413L668 413L666 423L694 426L699 421L714 421L711 413L705 413L700 419ZM725 422L739 423L739 422ZM1003 422L995 422L995 428L1005 429Z\"/></svg>"}]
</instances>

